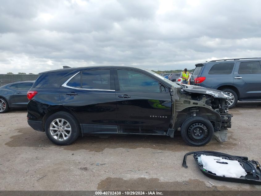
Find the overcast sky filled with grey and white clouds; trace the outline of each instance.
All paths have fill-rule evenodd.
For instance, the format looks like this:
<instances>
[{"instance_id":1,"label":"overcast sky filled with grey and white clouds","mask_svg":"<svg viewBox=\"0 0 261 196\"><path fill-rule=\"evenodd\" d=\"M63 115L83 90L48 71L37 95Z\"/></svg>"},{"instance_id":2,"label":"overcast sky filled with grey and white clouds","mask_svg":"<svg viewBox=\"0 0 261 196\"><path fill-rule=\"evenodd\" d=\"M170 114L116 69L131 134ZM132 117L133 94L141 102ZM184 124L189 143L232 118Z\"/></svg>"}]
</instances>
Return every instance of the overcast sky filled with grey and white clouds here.
<instances>
[{"instance_id":1,"label":"overcast sky filled with grey and white clouds","mask_svg":"<svg viewBox=\"0 0 261 196\"><path fill-rule=\"evenodd\" d=\"M261 57L259 0L0 0L0 73Z\"/></svg>"}]
</instances>

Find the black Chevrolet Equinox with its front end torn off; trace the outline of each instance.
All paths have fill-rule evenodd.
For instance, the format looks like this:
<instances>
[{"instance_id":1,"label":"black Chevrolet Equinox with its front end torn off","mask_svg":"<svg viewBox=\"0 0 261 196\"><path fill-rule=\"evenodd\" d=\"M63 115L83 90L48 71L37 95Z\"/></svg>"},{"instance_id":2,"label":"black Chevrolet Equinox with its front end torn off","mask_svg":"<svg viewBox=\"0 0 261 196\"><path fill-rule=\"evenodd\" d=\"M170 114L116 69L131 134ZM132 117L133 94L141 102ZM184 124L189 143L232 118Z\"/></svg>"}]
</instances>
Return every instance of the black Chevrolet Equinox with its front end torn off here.
<instances>
[{"instance_id":1,"label":"black Chevrolet Equinox with its front end torn off","mask_svg":"<svg viewBox=\"0 0 261 196\"><path fill-rule=\"evenodd\" d=\"M81 134L152 134L202 146L227 140L228 100L219 90L177 85L132 67L64 68L40 73L27 109L28 124L57 145Z\"/></svg>"}]
</instances>

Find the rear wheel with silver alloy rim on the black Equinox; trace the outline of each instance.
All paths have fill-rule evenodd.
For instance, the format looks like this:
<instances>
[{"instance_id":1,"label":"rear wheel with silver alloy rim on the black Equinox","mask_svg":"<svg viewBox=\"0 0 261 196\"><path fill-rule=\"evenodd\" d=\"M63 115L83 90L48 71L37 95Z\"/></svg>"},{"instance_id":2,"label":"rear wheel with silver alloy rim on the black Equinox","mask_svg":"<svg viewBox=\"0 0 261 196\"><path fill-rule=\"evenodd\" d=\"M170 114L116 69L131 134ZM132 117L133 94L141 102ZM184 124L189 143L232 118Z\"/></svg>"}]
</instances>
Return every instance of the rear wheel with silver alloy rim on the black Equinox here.
<instances>
[{"instance_id":1,"label":"rear wheel with silver alloy rim on the black Equinox","mask_svg":"<svg viewBox=\"0 0 261 196\"><path fill-rule=\"evenodd\" d=\"M78 138L81 130L74 116L64 111L50 115L45 122L44 128L47 137L54 144L61 146L74 142Z\"/></svg>"}]
</instances>

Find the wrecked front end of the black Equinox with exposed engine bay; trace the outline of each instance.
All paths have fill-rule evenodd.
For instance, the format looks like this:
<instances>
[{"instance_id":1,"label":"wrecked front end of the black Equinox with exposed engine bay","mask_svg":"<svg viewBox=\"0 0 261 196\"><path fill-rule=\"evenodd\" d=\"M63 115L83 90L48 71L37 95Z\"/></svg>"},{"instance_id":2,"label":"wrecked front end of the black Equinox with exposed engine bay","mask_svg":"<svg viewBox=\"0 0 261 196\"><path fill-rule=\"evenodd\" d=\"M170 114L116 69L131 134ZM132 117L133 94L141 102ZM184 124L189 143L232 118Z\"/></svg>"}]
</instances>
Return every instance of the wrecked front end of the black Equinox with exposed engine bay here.
<instances>
[{"instance_id":1,"label":"wrecked front end of the black Equinox with exposed engine bay","mask_svg":"<svg viewBox=\"0 0 261 196\"><path fill-rule=\"evenodd\" d=\"M188 86L186 88L185 86ZM190 117L202 117L213 124L214 137L218 142L227 141L227 131L231 128L232 114L228 113L228 94L201 87L194 89L190 85L173 90L172 129L176 130ZM176 93L175 93L176 91Z\"/></svg>"}]
</instances>

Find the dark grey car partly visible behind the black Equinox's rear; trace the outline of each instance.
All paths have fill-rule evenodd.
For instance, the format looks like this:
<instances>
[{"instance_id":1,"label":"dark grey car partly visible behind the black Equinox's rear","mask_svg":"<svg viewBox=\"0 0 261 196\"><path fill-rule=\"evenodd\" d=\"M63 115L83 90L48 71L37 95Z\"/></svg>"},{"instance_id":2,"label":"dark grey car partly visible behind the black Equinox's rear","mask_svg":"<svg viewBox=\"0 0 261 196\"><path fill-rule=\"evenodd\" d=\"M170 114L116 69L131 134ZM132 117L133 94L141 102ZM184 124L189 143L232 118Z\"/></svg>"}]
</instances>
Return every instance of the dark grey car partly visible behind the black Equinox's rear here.
<instances>
[{"instance_id":1,"label":"dark grey car partly visible behind the black Equinox's rear","mask_svg":"<svg viewBox=\"0 0 261 196\"><path fill-rule=\"evenodd\" d=\"M0 113L10 108L26 108L27 91L35 81L14 82L0 87Z\"/></svg>"}]
</instances>

